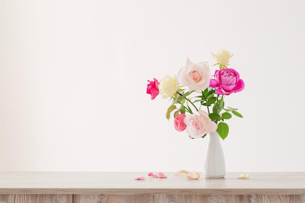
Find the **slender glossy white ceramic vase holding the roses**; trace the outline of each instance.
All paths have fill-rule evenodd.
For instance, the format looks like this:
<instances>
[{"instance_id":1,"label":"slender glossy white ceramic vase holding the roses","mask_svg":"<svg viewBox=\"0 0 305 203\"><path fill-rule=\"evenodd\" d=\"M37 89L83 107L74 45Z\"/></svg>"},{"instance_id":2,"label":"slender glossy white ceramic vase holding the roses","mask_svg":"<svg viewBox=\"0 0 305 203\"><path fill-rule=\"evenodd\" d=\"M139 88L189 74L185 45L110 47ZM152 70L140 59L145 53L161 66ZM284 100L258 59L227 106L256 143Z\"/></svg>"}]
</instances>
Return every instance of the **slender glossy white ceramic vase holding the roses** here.
<instances>
[{"instance_id":1,"label":"slender glossy white ceramic vase holding the roses","mask_svg":"<svg viewBox=\"0 0 305 203\"><path fill-rule=\"evenodd\" d=\"M220 136L217 132L210 132L208 136L210 137L210 142L205 156L204 177L224 178L226 175L226 163Z\"/></svg>"}]
</instances>

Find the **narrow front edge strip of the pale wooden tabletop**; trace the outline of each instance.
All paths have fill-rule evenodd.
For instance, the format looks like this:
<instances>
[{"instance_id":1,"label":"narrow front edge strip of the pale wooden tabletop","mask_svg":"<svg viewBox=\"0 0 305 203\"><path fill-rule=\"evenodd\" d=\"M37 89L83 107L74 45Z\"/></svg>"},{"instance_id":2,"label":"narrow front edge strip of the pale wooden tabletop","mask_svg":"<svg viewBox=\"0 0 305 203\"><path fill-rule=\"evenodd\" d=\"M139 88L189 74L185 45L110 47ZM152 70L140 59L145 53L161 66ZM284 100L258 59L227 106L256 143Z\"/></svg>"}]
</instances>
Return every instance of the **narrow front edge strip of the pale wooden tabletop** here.
<instances>
[{"instance_id":1,"label":"narrow front edge strip of the pale wooden tabletop","mask_svg":"<svg viewBox=\"0 0 305 203\"><path fill-rule=\"evenodd\" d=\"M0 194L305 195L305 188L0 188Z\"/></svg>"}]
</instances>

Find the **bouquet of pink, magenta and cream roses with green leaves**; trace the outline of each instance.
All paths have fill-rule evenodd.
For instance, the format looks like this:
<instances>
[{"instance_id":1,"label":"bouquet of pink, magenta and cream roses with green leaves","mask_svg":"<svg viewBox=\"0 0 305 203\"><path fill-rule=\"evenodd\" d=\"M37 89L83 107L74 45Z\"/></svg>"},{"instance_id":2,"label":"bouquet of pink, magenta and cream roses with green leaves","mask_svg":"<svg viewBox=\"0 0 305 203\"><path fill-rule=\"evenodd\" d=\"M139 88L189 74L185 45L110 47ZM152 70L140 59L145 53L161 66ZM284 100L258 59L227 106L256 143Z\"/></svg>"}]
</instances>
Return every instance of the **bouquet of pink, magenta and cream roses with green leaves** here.
<instances>
[{"instance_id":1,"label":"bouquet of pink, magenta and cream roses with green leaves","mask_svg":"<svg viewBox=\"0 0 305 203\"><path fill-rule=\"evenodd\" d=\"M204 138L207 133L217 131L224 140L229 133L225 120L232 114L243 117L237 109L226 107L225 96L240 92L245 84L239 73L228 68L229 59L233 56L227 50L213 54L219 65L214 75L211 75L209 62L192 63L187 58L185 67L177 75L166 75L163 79L148 80L147 93L151 99L161 95L169 98L172 104L166 112L166 118L174 118L174 128L177 131L186 129L190 138ZM202 110L206 109L206 111Z\"/></svg>"}]
</instances>

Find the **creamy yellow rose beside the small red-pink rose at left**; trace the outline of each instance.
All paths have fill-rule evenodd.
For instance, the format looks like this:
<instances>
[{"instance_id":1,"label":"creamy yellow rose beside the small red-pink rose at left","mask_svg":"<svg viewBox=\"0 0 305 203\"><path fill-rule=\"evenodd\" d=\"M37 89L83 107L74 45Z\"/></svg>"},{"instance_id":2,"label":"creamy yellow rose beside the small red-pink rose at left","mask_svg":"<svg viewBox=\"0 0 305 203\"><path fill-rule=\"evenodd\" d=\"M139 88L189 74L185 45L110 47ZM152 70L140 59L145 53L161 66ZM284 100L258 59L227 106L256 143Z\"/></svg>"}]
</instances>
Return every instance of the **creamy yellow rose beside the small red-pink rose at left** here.
<instances>
[{"instance_id":1,"label":"creamy yellow rose beside the small red-pink rose at left","mask_svg":"<svg viewBox=\"0 0 305 203\"><path fill-rule=\"evenodd\" d=\"M160 81L158 88L163 99L171 97L179 88L179 82L177 81L176 75L173 77L166 75Z\"/></svg>"}]
</instances>

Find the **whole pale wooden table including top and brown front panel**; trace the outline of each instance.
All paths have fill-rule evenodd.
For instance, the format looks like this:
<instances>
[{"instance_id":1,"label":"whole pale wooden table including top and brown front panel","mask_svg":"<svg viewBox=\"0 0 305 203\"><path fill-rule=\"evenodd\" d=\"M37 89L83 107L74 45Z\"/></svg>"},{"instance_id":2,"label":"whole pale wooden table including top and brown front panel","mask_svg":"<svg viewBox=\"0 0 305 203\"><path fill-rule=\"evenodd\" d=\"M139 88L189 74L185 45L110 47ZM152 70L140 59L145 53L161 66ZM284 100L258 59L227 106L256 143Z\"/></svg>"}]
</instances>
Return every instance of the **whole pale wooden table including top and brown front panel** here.
<instances>
[{"instance_id":1,"label":"whole pale wooden table including top and brown front panel","mask_svg":"<svg viewBox=\"0 0 305 203\"><path fill-rule=\"evenodd\" d=\"M0 203L305 203L305 172L252 172L249 179L238 179L238 172L221 179L201 174L198 180L148 173L0 172Z\"/></svg>"}]
</instances>

